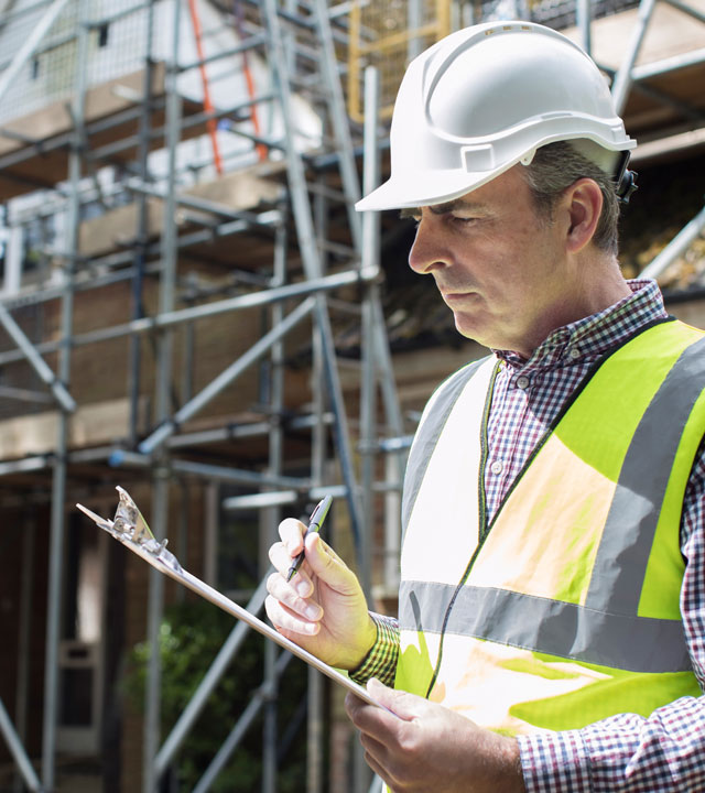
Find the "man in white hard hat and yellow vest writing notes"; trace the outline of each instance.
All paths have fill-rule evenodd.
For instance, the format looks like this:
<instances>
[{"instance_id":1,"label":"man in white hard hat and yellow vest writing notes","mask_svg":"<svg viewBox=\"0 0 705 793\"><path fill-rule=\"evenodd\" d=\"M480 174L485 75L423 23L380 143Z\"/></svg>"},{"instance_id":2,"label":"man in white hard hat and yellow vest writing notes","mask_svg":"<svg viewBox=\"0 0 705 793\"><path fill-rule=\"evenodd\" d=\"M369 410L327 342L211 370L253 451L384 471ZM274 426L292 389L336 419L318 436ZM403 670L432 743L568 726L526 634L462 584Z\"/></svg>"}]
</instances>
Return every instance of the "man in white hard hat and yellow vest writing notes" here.
<instances>
[{"instance_id":1,"label":"man in white hard hat and yellow vest writing notes","mask_svg":"<svg viewBox=\"0 0 705 793\"><path fill-rule=\"evenodd\" d=\"M382 681L387 709L347 708L393 791L705 790L705 347L620 274L633 145L595 65L540 25L459 31L404 76L391 178L358 208L416 219L410 265L494 354L414 438L399 621L317 535L288 585L293 520L267 601Z\"/></svg>"}]
</instances>

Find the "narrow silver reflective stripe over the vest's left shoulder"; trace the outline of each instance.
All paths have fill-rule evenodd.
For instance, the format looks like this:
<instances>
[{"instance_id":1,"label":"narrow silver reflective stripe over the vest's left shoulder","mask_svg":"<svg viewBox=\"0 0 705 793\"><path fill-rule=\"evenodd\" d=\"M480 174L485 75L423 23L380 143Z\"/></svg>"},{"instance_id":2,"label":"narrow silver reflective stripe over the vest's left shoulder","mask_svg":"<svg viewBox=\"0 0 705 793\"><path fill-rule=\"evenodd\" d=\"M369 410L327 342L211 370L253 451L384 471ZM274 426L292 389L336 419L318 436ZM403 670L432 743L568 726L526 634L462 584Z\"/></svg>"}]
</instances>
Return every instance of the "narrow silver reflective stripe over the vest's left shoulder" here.
<instances>
[{"instance_id":1,"label":"narrow silver reflective stripe over the vest's left shoulder","mask_svg":"<svg viewBox=\"0 0 705 793\"><path fill-rule=\"evenodd\" d=\"M487 358L481 358L480 360L473 361L473 363L468 363L468 366L451 374L451 377L438 387L438 397L433 406L433 411L424 419L423 424L414 436L414 443L404 474L401 504L401 525L403 533L406 532L411 511L419 495L421 482L423 481L423 475L429 466L429 460L438 441L438 436L453 410L453 405L456 403L466 383L486 360Z\"/></svg>"}]
</instances>

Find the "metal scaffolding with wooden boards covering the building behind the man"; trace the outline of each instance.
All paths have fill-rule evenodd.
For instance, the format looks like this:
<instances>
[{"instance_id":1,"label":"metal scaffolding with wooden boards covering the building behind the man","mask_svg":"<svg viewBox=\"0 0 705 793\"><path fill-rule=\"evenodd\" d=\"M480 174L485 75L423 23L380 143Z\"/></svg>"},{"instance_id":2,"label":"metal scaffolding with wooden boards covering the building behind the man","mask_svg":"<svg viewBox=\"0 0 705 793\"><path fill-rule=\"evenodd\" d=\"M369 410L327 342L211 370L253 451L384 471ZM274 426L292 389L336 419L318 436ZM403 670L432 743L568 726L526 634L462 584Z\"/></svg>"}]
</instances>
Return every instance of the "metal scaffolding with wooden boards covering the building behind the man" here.
<instances>
[{"instance_id":1,"label":"metal scaffolding with wooden boards covering the building behind the man","mask_svg":"<svg viewBox=\"0 0 705 793\"><path fill-rule=\"evenodd\" d=\"M387 58L386 47L402 53L403 61L426 46L429 36L471 20L460 4L448 2L438 3L430 20L422 13L427 9L410 0L401 3L408 12L404 24L415 19L417 30L411 25L411 33L394 32L375 47L370 41L380 37L383 22L362 14L368 6L375 3L352 3L350 10L347 4L330 8L325 0L214 0L189 2L188 18L178 0L46 0L19 3L0 17L0 34L14 29L22 41L0 64L0 198L17 205L15 214L6 217L0 324L11 344L0 350L0 369L18 372L22 367L22 377L2 379L0 395L29 403L32 422L44 422L43 434L51 437L50 443L24 439L18 445L21 454L6 453L0 461L0 477L18 481L21 492L48 504L51 514L41 773L24 748L26 677L18 681L14 719L0 700L0 734L29 790L48 793L59 786L59 633L67 506L74 493L90 503L91 498L105 499L107 482L122 477L149 481L152 500L143 509L162 539L186 521L173 508L175 484L237 487L236 495L223 498L209 486L206 534L215 531L223 511L254 510L263 558L283 514L332 492L345 503L340 520L349 525L366 594L371 599L380 583L394 588L399 537L392 530L381 548L375 515L383 499L393 522L413 421L399 406L386 335L379 218L360 217L352 208L360 194L358 162L365 151L368 192L380 180L386 146L378 112L388 104L389 78L380 87L376 68ZM673 6L703 23L697 9ZM636 57L653 2L643 0L642 7L634 43L622 67L612 70L622 104L630 86L646 86L649 79ZM199 19L199 9L220 14L232 37L208 47L221 30ZM403 28L397 15L394 23ZM575 35L589 50L587 2L577 3L577 22ZM162 44L155 45L159 32ZM116 68L101 56L112 35L132 42ZM193 57L184 56L186 35L195 35ZM69 55L59 68L52 58L65 47ZM677 66L663 63L657 74L705 62L702 51L694 58ZM91 69L96 63L100 68ZM267 75L259 84L257 68ZM3 115L10 100L22 99L18 90L28 70L54 79L61 74L65 80L53 94L52 112L26 97L22 118ZM340 73L347 77L345 93ZM234 79L245 86L237 101L212 97L217 85ZM184 85L193 83L202 90L185 93ZM684 100L668 91L657 96L651 90L649 96L671 111L683 111ZM51 132L44 126L47 115ZM686 116L693 122L702 118L702 108L691 107ZM654 140L660 134L654 128ZM194 143L184 154L187 140L208 143ZM234 140L239 144L230 145ZM33 202L37 191L41 200ZM47 224L52 233L44 238ZM702 215L695 225L698 233ZM22 289L29 248L26 239L13 237L20 227L39 235L30 251L33 283ZM688 240L692 233L690 229ZM79 322L90 296L99 304L105 294L117 295L120 304L93 317L93 326ZM46 328L32 326L25 316L31 309L50 317ZM218 323L237 328L232 346L239 351L219 371L197 376L198 329L206 325L217 336ZM339 329L350 326L355 355L343 359L336 340ZM229 343L221 338L220 349ZM124 390L104 389L95 404L87 402L85 393L93 392L77 370L98 367L87 361L99 361L104 348L109 360L115 344L124 348ZM291 365L296 356L304 360L305 383ZM234 384L243 397L234 398ZM226 394L235 410L224 410ZM100 400L107 410L100 409ZM54 408L50 417L47 402ZM214 405L218 410L208 414ZM22 420L18 410L2 415ZM199 424L204 415L210 417ZM119 427L117 437L109 430L96 431L91 437L98 439L82 443L82 428L100 422ZM2 502L12 503L12 498ZM28 519L25 561L34 553L32 526ZM187 532L183 534L185 547ZM207 569L208 562L204 564ZM265 572L260 564L259 578ZM25 585L31 587L23 580L22 624L31 612ZM247 596L248 610L261 611L263 584ZM152 571L145 604L152 647L142 729L145 793L158 790L176 762L247 633L241 623L232 629L173 729L162 736L158 649L164 600L163 578ZM20 669L28 655L25 637ZM212 787L260 713L261 789L276 790L276 686L289 659L267 645L261 686L194 790ZM324 692L316 673L310 674L306 696L306 790L319 793L325 790ZM352 778L350 791L369 789L359 752Z\"/></svg>"}]
</instances>

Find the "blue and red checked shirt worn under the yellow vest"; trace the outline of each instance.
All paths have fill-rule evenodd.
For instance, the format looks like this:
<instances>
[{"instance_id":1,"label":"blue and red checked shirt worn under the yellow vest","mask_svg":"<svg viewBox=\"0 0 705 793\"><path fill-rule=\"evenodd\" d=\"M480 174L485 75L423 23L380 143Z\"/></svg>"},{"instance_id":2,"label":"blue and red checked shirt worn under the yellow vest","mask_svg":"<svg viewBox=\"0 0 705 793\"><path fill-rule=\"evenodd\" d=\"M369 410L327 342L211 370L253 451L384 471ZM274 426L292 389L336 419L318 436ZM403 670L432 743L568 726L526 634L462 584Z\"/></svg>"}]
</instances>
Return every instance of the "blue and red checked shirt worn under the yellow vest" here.
<instances>
[{"instance_id":1,"label":"blue and red checked shirt worn under the yellow vest","mask_svg":"<svg viewBox=\"0 0 705 793\"><path fill-rule=\"evenodd\" d=\"M529 360L502 361L488 423L485 474L488 521L536 442L590 366L636 330L666 316L653 281L630 281L632 294L609 308L554 330ZM495 465L492 465L495 464ZM681 550L686 561L681 612L693 670L705 685L705 442L683 502ZM378 640L351 674L393 684L397 621L372 615ZM520 736L528 793L695 793L705 791L705 699L683 697L649 718L619 714L583 729Z\"/></svg>"}]
</instances>

